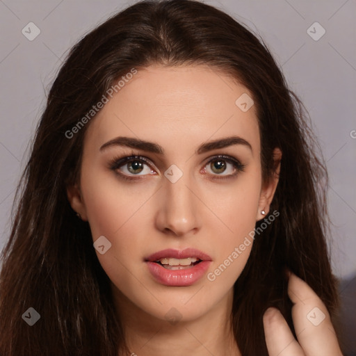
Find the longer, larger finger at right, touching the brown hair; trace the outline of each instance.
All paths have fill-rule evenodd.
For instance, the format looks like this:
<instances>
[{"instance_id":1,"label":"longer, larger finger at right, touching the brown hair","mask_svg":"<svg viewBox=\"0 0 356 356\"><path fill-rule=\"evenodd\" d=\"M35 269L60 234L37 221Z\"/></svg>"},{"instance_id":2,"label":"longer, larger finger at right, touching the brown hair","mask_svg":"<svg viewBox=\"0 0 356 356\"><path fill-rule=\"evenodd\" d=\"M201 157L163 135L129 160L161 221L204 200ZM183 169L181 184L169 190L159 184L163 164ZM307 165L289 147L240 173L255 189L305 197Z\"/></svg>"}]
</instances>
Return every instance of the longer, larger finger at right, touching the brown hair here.
<instances>
[{"instance_id":1,"label":"longer, larger finger at right, touching the brown hair","mask_svg":"<svg viewBox=\"0 0 356 356\"><path fill-rule=\"evenodd\" d=\"M306 355L342 356L330 315L310 286L291 273L288 294L294 303L293 325Z\"/></svg>"}]
</instances>

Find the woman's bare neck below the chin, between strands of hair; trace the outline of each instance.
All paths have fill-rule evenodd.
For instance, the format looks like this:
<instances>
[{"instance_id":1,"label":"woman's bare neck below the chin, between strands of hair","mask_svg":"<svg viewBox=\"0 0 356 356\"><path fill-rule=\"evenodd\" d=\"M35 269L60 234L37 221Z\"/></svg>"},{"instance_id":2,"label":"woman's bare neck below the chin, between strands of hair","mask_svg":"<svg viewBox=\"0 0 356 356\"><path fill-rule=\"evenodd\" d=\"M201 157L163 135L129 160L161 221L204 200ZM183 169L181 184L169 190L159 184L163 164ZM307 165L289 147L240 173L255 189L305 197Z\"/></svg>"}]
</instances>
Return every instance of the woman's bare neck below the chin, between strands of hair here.
<instances>
[{"instance_id":1,"label":"woman's bare neck below the chin, between strands of hair","mask_svg":"<svg viewBox=\"0 0 356 356\"><path fill-rule=\"evenodd\" d=\"M230 314L233 291L206 314L188 320L156 318L128 300L112 286L115 308L122 325L131 356L241 356L232 332ZM176 314L176 315L175 315ZM176 320L175 320L176 319Z\"/></svg>"}]
</instances>

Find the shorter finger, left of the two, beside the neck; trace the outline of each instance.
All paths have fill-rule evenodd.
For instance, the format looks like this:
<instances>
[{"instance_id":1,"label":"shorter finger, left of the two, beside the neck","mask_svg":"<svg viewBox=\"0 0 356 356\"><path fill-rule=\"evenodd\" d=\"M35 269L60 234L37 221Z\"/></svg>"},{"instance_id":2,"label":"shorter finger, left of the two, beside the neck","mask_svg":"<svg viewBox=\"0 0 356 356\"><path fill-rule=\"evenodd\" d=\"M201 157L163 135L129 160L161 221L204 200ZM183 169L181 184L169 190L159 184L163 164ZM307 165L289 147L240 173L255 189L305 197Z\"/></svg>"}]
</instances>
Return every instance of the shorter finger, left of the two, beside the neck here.
<instances>
[{"instance_id":1,"label":"shorter finger, left of the two, beside the neck","mask_svg":"<svg viewBox=\"0 0 356 356\"><path fill-rule=\"evenodd\" d=\"M264 313L264 334L269 356L305 356L278 309Z\"/></svg>"}]
</instances>

